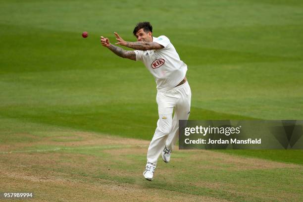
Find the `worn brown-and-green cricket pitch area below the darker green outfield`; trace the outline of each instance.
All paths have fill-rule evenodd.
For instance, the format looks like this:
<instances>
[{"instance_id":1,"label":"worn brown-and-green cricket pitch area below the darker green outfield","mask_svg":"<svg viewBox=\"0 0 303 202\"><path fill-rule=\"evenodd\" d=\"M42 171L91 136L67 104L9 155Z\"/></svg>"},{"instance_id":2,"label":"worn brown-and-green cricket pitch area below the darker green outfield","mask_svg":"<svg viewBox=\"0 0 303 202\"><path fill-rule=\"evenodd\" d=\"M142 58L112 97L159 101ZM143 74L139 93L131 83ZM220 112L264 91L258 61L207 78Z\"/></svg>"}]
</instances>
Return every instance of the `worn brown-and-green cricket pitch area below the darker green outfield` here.
<instances>
[{"instance_id":1,"label":"worn brown-and-green cricket pitch area below the darker green outfield","mask_svg":"<svg viewBox=\"0 0 303 202\"><path fill-rule=\"evenodd\" d=\"M300 201L303 166L221 152L174 151L143 178L149 141L64 128L0 146L0 191L31 201Z\"/></svg>"}]
</instances>

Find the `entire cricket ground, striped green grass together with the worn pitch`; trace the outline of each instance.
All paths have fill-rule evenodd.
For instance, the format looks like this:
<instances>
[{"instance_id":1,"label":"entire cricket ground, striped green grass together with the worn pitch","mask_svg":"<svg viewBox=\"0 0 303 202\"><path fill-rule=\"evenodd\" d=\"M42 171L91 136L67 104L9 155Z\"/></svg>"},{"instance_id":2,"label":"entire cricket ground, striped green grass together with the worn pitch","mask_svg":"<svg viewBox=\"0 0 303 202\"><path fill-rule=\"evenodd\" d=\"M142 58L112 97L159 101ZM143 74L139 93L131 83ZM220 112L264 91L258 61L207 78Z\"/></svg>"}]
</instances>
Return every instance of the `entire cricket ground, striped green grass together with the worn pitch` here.
<instances>
[{"instance_id":1,"label":"entire cricket ground, striped green grass together with the worn pitch","mask_svg":"<svg viewBox=\"0 0 303 202\"><path fill-rule=\"evenodd\" d=\"M190 119L303 119L303 1L0 5L0 192L32 191L36 201L303 201L303 150L175 151L147 182L154 80L99 39L115 43L118 32L135 41L139 21L169 37L188 65Z\"/></svg>"}]
</instances>

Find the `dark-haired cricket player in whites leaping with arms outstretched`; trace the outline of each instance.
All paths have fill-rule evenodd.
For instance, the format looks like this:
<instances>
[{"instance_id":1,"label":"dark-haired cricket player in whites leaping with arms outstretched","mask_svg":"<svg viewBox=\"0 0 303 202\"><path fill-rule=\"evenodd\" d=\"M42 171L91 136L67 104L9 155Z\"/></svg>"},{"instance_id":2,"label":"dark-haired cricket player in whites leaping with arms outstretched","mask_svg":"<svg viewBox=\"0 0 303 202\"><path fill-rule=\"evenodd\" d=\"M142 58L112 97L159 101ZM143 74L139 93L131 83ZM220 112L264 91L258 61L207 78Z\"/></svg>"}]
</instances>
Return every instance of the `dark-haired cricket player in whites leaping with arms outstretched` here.
<instances>
[{"instance_id":1,"label":"dark-haired cricket player in whites leaping with arms outstretched","mask_svg":"<svg viewBox=\"0 0 303 202\"><path fill-rule=\"evenodd\" d=\"M179 119L188 119L192 95L186 79L187 65L180 60L169 39L165 36L153 37L150 22L138 23L133 33L137 42L126 42L118 33L114 34L117 45L134 50L114 46L108 38L102 36L101 45L120 57L142 61L154 76L159 119L147 152L147 164L143 173L145 179L152 181L159 155L161 154L164 162L170 161L170 154L179 135Z\"/></svg>"}]
</instances>

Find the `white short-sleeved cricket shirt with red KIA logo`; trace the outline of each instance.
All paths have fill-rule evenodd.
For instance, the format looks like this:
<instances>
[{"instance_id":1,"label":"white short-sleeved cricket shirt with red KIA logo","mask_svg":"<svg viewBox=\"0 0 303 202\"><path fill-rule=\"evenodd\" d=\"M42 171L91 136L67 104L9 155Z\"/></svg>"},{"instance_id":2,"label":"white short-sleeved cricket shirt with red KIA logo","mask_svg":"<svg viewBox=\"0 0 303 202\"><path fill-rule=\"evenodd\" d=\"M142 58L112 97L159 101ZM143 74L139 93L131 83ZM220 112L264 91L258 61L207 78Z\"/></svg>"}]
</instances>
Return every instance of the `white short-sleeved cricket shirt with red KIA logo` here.
<instances>
[{"instance_id":1,"label":"white short-sleeved cricket shirt with red KIA logo","mask_svg":"<svg viewBox=\"0 0 303 202\"><path fill-rule=\"evenodd\" d=\"M167 91L177 86L184 79L187 65L180 60L175 47L167 37L152 37L152 41L164 48L159 50L134 50L136 60L141 60L152 73L157 84L157 91Z\"/></svg>"}]
</instances>

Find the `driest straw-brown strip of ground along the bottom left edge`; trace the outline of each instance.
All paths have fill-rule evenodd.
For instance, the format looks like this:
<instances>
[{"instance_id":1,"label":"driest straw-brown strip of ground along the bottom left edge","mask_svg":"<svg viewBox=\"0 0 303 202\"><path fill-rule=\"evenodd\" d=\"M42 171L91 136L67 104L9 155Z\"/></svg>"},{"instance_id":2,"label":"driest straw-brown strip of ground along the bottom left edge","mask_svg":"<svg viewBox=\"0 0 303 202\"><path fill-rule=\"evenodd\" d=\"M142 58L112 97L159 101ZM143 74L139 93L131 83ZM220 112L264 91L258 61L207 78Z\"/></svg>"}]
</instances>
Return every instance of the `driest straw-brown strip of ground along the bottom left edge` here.
<instances>
[{"instance_id":1,"label":"driest straw-brown strip of ground along the bottom left edge","mask_svg":"<svg viewBox=\"0 0 303 202\"><path fill-rule=\"evenodd\" d=\"M168 201L168 202L228 202L211 197L180 194L178 192L149 189L127 183L114 183L99 180L94 184L72 181L58 177L24 175L1 170L1 183L13 190L34 192L33 201ZM3 189L3 187L2 187Z\"/></svg>"}]
</instances>

